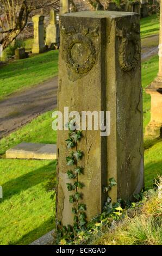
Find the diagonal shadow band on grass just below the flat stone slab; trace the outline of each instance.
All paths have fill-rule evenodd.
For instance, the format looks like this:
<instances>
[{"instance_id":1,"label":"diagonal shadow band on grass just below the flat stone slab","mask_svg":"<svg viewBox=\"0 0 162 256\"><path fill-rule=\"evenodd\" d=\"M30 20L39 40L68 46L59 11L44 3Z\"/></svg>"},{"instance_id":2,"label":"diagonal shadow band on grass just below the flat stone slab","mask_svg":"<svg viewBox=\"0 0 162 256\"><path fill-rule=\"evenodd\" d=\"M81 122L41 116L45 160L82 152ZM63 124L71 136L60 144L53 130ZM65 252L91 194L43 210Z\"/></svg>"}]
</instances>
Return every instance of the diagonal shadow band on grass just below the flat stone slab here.
<instances>
[{"instance_id":1,"label":"diagonal shadow band on grass just below the flat stone slab","mask_svg":"<svg viewBox=\"0 0 162 256\"><path fill-rule=\"evenodd\" d=\"M8 182L2 184L3 187L3 199L0 200L0 203L4 202L8 198L18 194L21 191L27 190L30 187L33 187L41 182L49 180L49 174L51 173L51 178L53 176L52 171L55 173L55 164L56 161L53 161L46 166L43 166L39 169L33 170L27 174L19 176L16 179L11 179Z\"/></svg>"}]
</instances>

